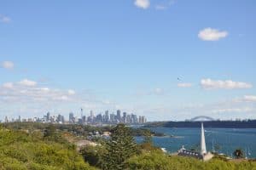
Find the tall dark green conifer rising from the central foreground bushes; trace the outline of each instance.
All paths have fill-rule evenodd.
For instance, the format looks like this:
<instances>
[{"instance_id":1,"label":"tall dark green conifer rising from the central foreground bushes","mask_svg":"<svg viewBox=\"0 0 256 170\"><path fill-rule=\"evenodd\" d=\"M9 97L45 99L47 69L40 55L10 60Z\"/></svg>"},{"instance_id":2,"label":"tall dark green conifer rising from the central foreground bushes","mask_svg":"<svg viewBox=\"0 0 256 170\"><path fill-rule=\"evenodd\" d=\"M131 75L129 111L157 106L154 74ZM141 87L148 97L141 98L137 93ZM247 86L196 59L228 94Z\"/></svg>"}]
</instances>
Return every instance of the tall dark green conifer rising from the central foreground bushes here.
<instances>
[{"instance_id":1,"label":"tall dark green conifer rising from the central foreground bushes","mask_svg":"<svg viewBox=\"0 0 256 170\"><path fill-rule=\"evenodd\" d=\"M131 136L131 129L119 124L111 131L110 139L106 143L106 154L103 156L102 169L122 170L128 159L136 154L137 144Z\"/></svg>"}]
</instances>

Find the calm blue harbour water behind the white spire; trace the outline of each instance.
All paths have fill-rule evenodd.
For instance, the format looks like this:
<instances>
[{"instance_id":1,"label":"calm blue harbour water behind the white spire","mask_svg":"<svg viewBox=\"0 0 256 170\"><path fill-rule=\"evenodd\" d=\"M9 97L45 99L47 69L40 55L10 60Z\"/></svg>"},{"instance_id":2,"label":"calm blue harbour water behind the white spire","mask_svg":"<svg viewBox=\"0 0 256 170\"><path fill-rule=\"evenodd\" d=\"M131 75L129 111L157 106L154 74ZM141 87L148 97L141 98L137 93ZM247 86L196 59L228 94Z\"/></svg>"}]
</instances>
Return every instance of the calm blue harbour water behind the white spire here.
<instances>
[{"instance_id":1,"label":"calm blue harbour water behind the white spire","mask_svg":"<svg viewBox=\"0 0 256 170\"><path fill-rule=\"evenodd\" d=\"M186 149L196 149L200 146L200 128L157 127L151 130L177 136L177 138L153 138L154 145L166 148L168 152L176 152L182 145ZM256 129L206 128L205 130L207 150L211 151L213 146L218 153L231 156L234 150L241 148L244 151L247 150L247 157L256 158ZM137 142L142 140L143 138L137 138Z\"/></svg>"}]
</instances>

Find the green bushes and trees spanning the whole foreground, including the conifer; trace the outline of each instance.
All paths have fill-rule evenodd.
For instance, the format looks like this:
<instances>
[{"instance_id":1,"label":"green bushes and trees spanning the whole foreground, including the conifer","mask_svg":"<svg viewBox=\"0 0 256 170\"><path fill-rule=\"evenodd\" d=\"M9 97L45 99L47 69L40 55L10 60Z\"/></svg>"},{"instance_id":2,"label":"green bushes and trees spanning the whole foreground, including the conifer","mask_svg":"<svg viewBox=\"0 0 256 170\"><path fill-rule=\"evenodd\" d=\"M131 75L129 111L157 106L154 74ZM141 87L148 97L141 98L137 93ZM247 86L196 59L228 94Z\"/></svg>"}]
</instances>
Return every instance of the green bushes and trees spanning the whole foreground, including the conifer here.
<instances>
[{"instance_id":1,"label":"green bushes and trees spanning the whole foreground, including the conifer","mask_svg":"<svg viewBox=\"0 0 256 170\"><path fill-rule=\"evenodd\" d=\"M80 152L62 138L58 127L37 126L44 126L44 130L35 126L29 132L19 126L0 127L1 170L256 170L256 161L229 161L216 156L203 162L169 156L154 147L151 133L145 133L143 143L136 144L131 128L122 124L110 129L109 140L86 146Z\"/></svg>"}]
</instances>

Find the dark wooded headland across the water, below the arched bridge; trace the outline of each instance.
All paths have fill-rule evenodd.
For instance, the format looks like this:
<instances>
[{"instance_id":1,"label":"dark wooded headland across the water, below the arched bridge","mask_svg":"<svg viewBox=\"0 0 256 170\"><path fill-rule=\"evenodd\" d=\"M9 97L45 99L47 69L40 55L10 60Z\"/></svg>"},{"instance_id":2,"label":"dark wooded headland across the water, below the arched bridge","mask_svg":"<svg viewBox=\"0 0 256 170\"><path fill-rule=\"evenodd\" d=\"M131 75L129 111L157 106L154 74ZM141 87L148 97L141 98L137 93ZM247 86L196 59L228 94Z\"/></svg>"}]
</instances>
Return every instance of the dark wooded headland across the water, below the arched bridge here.
<instances>
[{"instance_id":1,"label":"dark wooded headland across the water, below the arched bridge","mask_svg":"<svg viewBox=\"0 0 256 170\"><path fill-rule=\"evenodd\" d=\"M201 127L201 122L149 122L145 127ZM256 120L248 121L208 121L209 128L256 128Z\"/></svg>"}]
</instances>

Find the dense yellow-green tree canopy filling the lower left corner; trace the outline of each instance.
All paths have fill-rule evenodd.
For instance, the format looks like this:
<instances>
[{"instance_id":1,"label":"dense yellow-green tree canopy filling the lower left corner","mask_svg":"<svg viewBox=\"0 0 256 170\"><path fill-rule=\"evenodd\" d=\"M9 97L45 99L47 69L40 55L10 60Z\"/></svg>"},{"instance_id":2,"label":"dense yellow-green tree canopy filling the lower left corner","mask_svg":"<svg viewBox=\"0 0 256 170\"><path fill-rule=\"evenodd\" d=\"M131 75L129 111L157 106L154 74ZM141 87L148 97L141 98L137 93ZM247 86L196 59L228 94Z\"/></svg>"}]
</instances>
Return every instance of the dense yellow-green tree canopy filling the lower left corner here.
<instances>
[{"instance_id":1,"label":"dense yellow-green tree canopy filling the lower left corner","mask_svg":"<svg viewBox=\"0 0 256 170\"><path fill-rule=\"evenodd\" d=\"M59 137L61 138L61 137ZM72 144L44 140L41 133L0 129L0 169L94 169Z\"/></svg>"}]
</instances>

